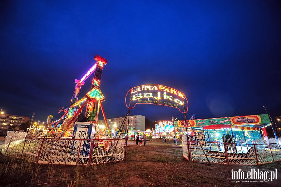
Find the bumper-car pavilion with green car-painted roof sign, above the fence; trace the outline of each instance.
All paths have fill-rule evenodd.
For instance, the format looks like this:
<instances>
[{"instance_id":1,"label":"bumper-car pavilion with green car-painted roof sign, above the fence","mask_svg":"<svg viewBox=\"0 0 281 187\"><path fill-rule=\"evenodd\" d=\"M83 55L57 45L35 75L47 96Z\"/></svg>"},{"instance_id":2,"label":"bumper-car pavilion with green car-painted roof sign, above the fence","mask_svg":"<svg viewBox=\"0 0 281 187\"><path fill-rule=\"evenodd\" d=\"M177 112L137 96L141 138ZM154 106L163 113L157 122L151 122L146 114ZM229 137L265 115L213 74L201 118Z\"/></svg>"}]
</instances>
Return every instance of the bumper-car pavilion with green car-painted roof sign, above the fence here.
<instances>
[{"instance_id":1,"label":"bumper-car pavilion with green car-painted roof sign, above the fence","mask_svg":"<svg viewBox=\"0 0 281 187\"><path fill-rule=\"evenodd\" d=\"M222 134L226 135L227 131L233 137L239 137L239 141L257 141L259 139L268 141L265 127L271 125L267 114L189 120L189 123L175 121L174 125L176 129L187 132L191 138L194 138L195 135L203 135L206 141L222 141Z\"/></svg>"}]
</instances>

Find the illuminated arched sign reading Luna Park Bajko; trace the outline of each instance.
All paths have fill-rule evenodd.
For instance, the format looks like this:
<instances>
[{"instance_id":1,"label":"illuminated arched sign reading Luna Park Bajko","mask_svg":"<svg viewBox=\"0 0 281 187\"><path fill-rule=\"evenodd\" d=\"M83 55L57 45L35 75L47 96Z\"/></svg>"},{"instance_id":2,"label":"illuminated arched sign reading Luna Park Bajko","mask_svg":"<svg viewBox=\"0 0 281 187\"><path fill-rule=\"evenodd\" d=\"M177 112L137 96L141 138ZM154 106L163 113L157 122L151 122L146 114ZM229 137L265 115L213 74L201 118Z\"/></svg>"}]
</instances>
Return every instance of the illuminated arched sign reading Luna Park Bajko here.
<instances>
[{"instance_id":1,"label":"illuminated arched sign reading Luna Park Bajko","mask_svg":"<svg viewBox=\"0 0 281 187\"><path fill-rule=\"evenodd\" d=\"M127 98L128 95L130 98ZM188 111L188 101L182 92L155 84L131 88L126 94L125 103L129 109L137 104L153 104L178 108L181 113Z\"/></svg>"}]
</instances>

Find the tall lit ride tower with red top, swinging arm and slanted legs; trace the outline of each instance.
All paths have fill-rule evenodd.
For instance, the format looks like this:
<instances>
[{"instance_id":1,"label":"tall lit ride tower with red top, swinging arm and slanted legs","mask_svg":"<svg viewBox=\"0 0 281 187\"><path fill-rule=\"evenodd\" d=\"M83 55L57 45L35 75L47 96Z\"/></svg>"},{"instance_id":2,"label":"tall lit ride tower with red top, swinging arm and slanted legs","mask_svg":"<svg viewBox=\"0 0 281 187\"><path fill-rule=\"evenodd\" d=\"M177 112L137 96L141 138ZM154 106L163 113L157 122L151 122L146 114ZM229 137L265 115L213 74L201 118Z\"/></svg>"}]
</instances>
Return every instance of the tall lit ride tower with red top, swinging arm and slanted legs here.
<instances>
[{"instance_id":1,"label":"tall lit ride tower with red top, swinging arm and slanted legs","mask_svg":"<svg viewBox=\"0 0 281 187\"><path fill-rule=\"evenodd\" d=\"M74 123L79 117L79 113L82 111L83 107L87 104L86 106L86 111L85 111L85 118L84 121L92 122L95 123L98 120L98 112L99 108L101 107L102 114L104 116L104 119L106 121L106 116L102 107L101 102L104 100L104 96L101 93L100 90L100 84L101 84L101 73L103 66L107 64L107 60L104 59L103 57L100 57L98 55L95 56L94 58L97 62L87 71L87 73L81 78L81 80L75 80L76 86L75 90L71 99L71 104L70 107L67 111L67 118L63 121L61 125L61 130L63 132L65 131L73 131L74 129ZM92 84L91 84L91 90L86 93L86 95L81 98L79 101L78 100L78 95L81 90L81 86L85 84L85 80L91 76L91 74L94 74ZM83 103L83 104L82 104ZM81 104L81 105L80 105ZM79 106L80 108L76 110L76 106ZM106 121L106 127L107 130L110 134L110 130Z\"/></svg>"}]
</instances>

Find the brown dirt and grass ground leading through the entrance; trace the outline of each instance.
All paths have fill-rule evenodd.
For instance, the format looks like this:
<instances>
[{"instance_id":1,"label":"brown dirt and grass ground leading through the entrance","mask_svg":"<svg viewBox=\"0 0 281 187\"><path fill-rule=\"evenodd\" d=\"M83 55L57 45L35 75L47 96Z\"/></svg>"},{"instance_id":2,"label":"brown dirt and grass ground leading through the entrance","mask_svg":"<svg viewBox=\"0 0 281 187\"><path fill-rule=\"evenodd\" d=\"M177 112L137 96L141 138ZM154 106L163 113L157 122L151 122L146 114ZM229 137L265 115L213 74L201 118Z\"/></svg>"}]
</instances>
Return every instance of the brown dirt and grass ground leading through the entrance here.
<instances>
[{"instance_id":1,"label":"brown dirt and grass ground leading through the entrance","mask_svg":"<svg viewBox=\"0 0 281 187\"><path fill-rule=\"evenodd\" d=\"M173 140L162 142L157 139L147 141L146 146L139 147L136 146L135 141L129 141L126 161L92 166L36 165L1 155L0 186L276 187L280 185L281 162L260 166L195 163L187 161L182 156L182 148L173 145L175 145ZM262 183L232 180L232 170L239 169L244 171L245 175L251 169L269 171L267 178L270 178L271 171L277 169L277 180L268 182L259 180L263 181Z\"/></svg>"}]
</instances>

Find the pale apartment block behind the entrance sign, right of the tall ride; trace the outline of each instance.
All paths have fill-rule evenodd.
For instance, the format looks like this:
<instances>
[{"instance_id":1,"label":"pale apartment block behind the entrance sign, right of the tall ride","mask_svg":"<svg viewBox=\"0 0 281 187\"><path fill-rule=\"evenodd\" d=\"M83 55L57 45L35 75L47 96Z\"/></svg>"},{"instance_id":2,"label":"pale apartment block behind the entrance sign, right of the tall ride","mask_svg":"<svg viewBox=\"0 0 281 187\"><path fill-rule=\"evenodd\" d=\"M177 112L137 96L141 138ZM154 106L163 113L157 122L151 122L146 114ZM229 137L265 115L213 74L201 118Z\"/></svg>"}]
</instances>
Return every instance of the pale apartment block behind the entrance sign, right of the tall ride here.
<instances>
[{"instance_id":1,"label":"pale apartment block behind the entrance sign, right of the tall ride","mask_svg":"<svg viewBox=\"0 0 281 187\"><path fill-rule=\"evenodd\" d=\"M119 129L124 119L125 117L107 119L109 129L110 130L114 128ZM123 127L123 130L127 130L128 123L129 123L129 130L145 130L145 116L135 115L135 116L127 117L127 119L125 120L125 125ZM98 120L98 124L104 125L106 128L105 120Z\"/></svg>"}]
</instances>

